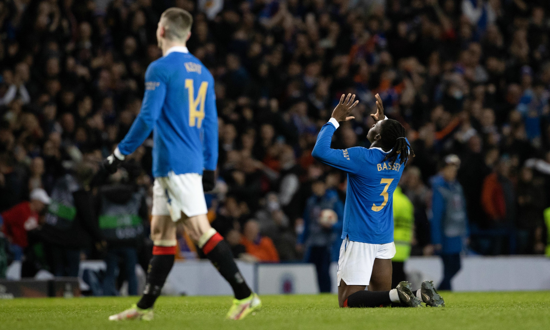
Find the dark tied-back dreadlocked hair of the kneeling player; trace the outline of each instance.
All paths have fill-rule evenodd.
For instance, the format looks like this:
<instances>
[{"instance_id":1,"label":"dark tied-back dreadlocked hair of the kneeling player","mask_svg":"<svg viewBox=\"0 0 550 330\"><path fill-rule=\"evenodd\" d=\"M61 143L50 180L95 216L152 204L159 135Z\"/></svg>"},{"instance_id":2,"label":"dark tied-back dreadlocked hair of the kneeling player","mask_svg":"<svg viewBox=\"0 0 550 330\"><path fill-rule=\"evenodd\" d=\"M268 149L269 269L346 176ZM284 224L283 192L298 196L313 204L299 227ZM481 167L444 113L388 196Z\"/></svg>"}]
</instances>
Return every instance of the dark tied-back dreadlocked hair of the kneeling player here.
<instances>
[{"instance_id":1,"label":"dark tied-back dreadlocked hair of the kneeling player","mask_svg":"<svg viewBox=\"0 0 550 330\"><path fill-rule=\"evenodd\" d=\"M385 149L391 149L384 157L384 162L389 160L390 164L394 164L399 157L399 164L407 163L409 154L414 157L414 151L405 139L405 128L397 120L386 119L382 122L380 131L380 143Z\"/></svg>"}]
</instances>

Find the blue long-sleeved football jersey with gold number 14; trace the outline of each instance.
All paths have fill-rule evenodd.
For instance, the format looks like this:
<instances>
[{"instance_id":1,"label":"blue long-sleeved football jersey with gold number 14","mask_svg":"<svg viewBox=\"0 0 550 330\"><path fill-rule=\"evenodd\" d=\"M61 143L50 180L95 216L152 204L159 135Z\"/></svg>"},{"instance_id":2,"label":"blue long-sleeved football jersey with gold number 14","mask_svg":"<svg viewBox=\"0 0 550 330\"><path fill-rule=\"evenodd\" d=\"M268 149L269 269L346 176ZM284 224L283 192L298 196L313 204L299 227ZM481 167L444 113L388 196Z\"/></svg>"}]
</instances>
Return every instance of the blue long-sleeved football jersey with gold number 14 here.
<instances>
[{"instance_id":1,"label":"blue long-sleeved football jersey with gold number 14","mask_svg":"<svg viewBox=\"0 0 550 330\"><path fill-rule=\"evenodd\" d=\"M141 111L118 149L134 152L153 131L153 176L215 170L218 118L214 79L186 47L149 64Z\"/></svg>"}]
</instances>

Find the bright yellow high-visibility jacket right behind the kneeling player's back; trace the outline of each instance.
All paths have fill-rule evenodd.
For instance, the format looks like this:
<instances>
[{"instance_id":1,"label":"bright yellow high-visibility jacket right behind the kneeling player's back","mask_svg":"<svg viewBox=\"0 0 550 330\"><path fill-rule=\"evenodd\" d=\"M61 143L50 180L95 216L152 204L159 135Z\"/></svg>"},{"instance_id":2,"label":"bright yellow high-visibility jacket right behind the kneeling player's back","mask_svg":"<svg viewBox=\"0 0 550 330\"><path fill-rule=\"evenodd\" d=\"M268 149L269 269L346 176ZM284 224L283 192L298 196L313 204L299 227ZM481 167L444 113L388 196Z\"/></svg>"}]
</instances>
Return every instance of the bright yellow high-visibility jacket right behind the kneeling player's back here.
<instances>
[{"instance_id":1,"label":"bright yellow high-visibility jacket right behind the kneeling player's back","mask_svg":"<svg viewBox=\"0 0 550 330\"><path fill-rule=\"evenodd\" d=\"M403 262L409 259L413 223L414 206L398 186L393 192L393 241L395 243L393 261Z\"/></svg>"}]
</instances>

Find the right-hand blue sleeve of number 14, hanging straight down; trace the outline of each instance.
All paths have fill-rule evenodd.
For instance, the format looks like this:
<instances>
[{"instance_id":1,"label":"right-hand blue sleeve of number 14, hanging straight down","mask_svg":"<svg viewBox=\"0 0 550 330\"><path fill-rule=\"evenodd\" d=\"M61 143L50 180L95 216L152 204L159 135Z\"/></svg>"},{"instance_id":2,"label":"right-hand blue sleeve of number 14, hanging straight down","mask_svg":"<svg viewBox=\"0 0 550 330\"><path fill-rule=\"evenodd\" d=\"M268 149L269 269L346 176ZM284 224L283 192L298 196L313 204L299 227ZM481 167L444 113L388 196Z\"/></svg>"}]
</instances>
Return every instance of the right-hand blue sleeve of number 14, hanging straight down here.
<instances>
[{"instance_id":1,"label":"right-hand blue sleeve of number 14, hanging straight down","mask_svg":"<svg viewBox=\"0 0 550 330\"><path fill-rule=\"evenodd\" d=\"M206 92L204 125L204 168L215 171L218 164L218 111L216 109L216 93L214 79L211 79Z\"/></svg>"}]
</instances>

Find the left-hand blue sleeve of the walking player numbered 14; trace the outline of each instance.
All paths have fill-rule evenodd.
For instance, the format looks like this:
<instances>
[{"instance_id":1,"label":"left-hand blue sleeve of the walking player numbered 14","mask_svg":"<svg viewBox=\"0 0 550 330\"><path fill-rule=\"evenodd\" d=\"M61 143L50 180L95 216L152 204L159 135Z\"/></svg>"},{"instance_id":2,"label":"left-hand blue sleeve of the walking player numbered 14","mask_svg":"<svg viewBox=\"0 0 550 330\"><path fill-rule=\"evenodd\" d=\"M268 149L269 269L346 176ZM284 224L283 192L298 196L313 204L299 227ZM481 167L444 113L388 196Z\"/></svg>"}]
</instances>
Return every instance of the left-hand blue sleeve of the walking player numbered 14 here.
<instances>
[{"instance_id":1,"label":"left-hand blue sleeve of the walking player numbered 14","mask_svg":"<svg viewBox=\"0 0 550 330\"><path fill-rule=\"evenodd\" d=\"M123 155L130 155L147 139L155 127L158 116L161 114L164 97L166 96L166 82L156 63L151 63L145 72L145 94L141 104L141 111L130 127L128 134L118 144L118 150Z\"/></svg>"}]
</instances>

